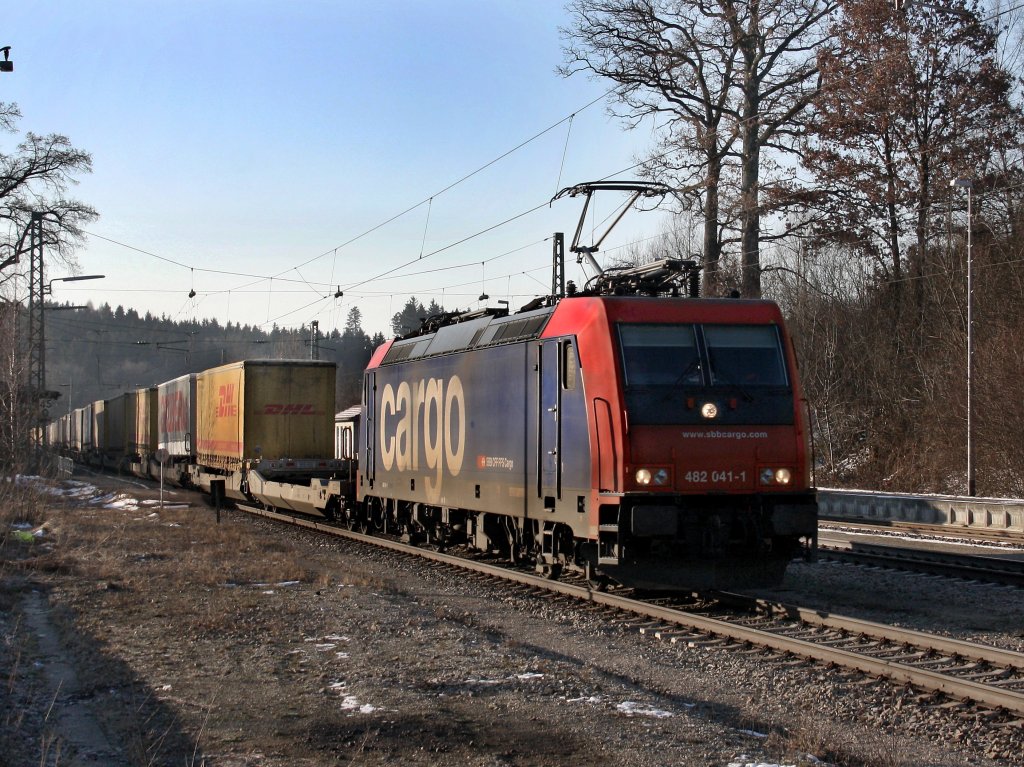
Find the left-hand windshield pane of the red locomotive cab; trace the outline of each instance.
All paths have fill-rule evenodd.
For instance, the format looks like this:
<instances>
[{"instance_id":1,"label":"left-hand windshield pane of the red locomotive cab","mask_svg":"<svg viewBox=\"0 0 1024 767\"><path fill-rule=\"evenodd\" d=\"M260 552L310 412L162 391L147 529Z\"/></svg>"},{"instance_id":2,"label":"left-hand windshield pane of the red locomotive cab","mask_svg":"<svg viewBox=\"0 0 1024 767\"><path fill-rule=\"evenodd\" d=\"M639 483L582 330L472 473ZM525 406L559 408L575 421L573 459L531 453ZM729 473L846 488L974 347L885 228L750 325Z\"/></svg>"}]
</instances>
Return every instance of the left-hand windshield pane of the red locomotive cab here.
<instances>
[{"instance_id":1,"label":"left-hand windshield pane of the red locomotive cab","mask_svg":"<svg viewBox=\"0 0 1024 767\"><path fill-rule=\"evenodd\" d=\"M622 325L618 338L627 386L700 383L700 355L691 325Z\"/></svg>"}]
</instances>

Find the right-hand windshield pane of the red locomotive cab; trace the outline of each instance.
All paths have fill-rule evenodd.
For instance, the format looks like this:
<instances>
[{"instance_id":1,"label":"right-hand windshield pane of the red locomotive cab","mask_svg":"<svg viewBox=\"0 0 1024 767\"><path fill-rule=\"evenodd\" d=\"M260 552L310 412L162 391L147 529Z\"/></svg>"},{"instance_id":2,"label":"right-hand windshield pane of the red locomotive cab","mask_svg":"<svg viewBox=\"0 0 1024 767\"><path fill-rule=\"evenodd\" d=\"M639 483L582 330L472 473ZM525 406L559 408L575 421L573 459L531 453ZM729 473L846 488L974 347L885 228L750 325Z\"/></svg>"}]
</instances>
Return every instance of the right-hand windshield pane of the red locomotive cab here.
<instances>
[{"instance_id":1,"label":"right-hand windshield pane of the red locomotive cab","mask_svg":"<svg viewBox=\"0 0 1024 767\"><path fill-rule=\"evenodd\" d=\"M715 386L785 386L778 331L771 325L706 325Z\"/></svg>"}]
</instances>

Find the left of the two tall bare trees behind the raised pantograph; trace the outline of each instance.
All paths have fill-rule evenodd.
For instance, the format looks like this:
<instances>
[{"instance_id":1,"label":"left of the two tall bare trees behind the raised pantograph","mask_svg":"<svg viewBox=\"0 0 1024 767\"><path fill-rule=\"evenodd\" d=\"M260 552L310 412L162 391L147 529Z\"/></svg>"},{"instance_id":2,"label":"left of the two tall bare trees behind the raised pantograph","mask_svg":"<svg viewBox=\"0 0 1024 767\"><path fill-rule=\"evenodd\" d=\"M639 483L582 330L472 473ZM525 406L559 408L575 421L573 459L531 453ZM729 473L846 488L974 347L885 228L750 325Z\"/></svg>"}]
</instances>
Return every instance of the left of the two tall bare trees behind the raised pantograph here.
<instances>
[{"instance_id":1,"label":"left of the two tall bare trees behind the raised pantograph","mask_svg":"<svg viewBox=\"0 0 1024 767\"><path fill-rule=\"evenodd\" d=\"M688 6L690 4L687 4ZM645 172L669 180L703 218L705 291L718 289L720 183L729 147L738 50L715 3L577 0L562 73L590 72L622 87L633 124L654 117L664 135ZM691 12L688 12L691 11Z\"/></svg>"}]
</instances>

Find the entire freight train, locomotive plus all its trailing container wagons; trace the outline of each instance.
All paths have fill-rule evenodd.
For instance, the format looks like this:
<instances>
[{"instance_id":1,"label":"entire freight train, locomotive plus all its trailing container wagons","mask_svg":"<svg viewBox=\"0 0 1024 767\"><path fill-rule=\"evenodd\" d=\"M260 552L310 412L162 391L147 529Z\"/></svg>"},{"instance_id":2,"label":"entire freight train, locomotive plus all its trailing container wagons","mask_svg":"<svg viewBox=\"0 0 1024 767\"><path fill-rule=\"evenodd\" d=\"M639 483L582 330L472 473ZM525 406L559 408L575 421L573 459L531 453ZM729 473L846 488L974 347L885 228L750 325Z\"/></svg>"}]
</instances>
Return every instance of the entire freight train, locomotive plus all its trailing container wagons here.
<instances>
[{"instance_id":1,"label":"entire freight train, locomotive plus all its trailing container wagons","mask_svg":"<svg viewBox=\"0 0 1024 767\"><path fill-rule=\"evenodd\" d=\"M86 406L51 441L551 577L777 583L817 535L793 345L775 304L698 298L695 270L433 317L374 352L338 418L333 364L247 360Z\"/></svg>"}]
</instances>

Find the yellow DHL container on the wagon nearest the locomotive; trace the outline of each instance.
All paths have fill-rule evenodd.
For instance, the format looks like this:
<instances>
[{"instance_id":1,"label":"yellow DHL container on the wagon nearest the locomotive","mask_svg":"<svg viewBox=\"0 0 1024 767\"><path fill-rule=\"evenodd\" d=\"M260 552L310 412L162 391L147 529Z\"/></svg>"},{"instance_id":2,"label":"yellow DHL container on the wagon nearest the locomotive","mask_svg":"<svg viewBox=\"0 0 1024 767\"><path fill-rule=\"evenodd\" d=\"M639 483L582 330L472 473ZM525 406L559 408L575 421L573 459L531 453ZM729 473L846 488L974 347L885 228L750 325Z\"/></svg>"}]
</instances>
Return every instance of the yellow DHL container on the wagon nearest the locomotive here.
<instances>
[{"instance_id":1,"label":"yellow DHL container on the wagon nearest the locomotive","mask_svg":"<svg viewBox=\"0 0 1024 767\"><path fill-rule=\"evenodd\" d=\"M196 453L231 471L244 460L331 458L337 366L249 359L196 377Z\"/></svg>"}]
</instances>

